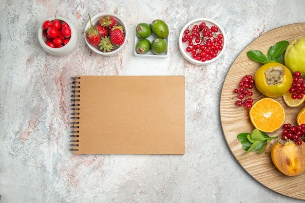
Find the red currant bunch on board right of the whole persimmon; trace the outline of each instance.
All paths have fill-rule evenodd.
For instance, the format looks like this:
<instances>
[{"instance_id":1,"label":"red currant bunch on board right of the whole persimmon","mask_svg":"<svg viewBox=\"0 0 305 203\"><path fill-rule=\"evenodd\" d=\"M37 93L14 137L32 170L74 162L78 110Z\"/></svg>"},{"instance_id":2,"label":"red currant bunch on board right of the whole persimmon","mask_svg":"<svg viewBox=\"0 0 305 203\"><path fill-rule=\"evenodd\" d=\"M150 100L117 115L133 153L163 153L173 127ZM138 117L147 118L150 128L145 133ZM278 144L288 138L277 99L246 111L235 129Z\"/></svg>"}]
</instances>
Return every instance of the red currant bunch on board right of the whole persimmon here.
<instances>
[{"instance_id":1,"label":"red currant bunch on board right of the whole persimmon","mask_svg":"<svg viewBox=\"0 0 305 203\"><path fill-rule=\"evenodd\" d=\"M293 82L289 89L292 99L303 99L305 94L305 83L301 72L297 71L294 73Z\"/></svg>"}]
</instances>

